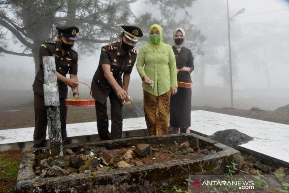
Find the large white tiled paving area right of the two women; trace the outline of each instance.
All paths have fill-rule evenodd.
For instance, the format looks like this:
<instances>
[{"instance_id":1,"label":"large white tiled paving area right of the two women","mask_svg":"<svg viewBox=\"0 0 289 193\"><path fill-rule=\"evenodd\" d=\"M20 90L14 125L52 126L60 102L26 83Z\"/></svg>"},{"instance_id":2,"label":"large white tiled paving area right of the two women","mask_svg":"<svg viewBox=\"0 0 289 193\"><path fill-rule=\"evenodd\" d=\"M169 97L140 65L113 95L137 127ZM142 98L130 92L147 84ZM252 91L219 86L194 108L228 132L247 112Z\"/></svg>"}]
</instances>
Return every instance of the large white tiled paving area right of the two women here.
<instances>
[{"instance_id":1,"label":"large white tiled paving area right of the two women","mask_svg":"<svg viewBox=\"0 0 289 193\"><path fill-rule=\"evenodd\" d=\"M208 111L192 111L191 129L205 135L237 129L255 139L240 146L289 162L289 125Z\"/></svg>"}]
</instances>

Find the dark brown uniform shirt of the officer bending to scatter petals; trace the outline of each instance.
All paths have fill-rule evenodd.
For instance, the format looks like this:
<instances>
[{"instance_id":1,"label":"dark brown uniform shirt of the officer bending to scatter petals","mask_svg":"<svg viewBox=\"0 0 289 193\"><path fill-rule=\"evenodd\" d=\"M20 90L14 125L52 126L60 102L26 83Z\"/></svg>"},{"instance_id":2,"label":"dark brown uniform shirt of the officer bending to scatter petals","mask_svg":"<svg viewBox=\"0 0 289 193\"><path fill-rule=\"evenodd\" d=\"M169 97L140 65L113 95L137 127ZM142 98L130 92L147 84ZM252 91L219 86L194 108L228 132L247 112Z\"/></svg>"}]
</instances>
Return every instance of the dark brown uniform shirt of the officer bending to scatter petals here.
<instances>
[{"instance_id":1,"label":"dark brown uniform shirt of the officer bending to scatter petals","mask_svg":"<svg viewBox=\"0 0 289 193\"><path fill-rule=\"evenodd\" d=\"M122 75L124 72L131 73L134 63L136 62L136 56L137 53L135 49L132 49L129 53L123 53L119 42L103 46L101 48L99 66L91 82L92 97L104 104L112 90L112 86L104 77L101 65L110 65L110 72L116 82L123 88Z\"/></svg>"}]
</instances>

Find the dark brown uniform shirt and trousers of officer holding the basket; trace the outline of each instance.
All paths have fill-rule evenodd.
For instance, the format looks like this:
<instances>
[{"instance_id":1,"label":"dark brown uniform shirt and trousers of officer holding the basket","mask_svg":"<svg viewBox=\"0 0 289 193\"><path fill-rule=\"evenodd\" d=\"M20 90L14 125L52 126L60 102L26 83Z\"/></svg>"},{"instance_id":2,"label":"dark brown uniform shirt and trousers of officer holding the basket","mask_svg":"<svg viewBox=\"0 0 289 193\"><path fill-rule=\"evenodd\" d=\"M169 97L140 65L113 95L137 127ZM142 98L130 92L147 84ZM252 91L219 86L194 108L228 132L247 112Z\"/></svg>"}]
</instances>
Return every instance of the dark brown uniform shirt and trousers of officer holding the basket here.
<instances>
[{"instance_id":1,"label":"dark brown uniform shirt and trousers of officer holding the basket","mask_svg":"<svg viewBox=\"0 0 289 193\"><path fill-rule=\"evenodd\" d=\"M42 56L55 56L56 71L63 76L67 73L77 74L77 53L69 49L64 56L61 53L61 46L59 42L45 41L40 46L39 59L40 69L37 72L34 83L32 85L34 91L34 113L35 113L35 128L34 128L34 147L44 147L47 129L47 112L44 105L43 83L44 74L42 66ZM60 101L60 122L61 122L61 136L62 143L66 141L66 115L67 106L65 99L67 97L68 87L63 82L58 82L59 101Z\"/></svg>"}]
</instances>

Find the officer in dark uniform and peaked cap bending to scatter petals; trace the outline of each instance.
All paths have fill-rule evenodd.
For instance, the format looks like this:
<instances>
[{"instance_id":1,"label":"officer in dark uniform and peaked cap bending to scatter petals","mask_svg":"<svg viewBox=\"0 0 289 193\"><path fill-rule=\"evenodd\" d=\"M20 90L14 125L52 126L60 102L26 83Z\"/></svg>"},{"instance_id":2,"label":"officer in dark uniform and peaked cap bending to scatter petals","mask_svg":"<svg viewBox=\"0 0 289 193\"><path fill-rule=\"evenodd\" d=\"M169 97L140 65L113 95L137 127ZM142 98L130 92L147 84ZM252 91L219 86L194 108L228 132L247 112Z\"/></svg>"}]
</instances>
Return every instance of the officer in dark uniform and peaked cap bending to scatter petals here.
<instances>
[{"instance_id":1,"label":"officer in dark uniform and peaked cap bending to scatter petals","mask_svg":"<svg viewBox=\"0 0 289 193\"><path fill-rule=\"evenodd\" d=\"M121 27L123 33L119 35L119 42L101 48L99 66L91 83L92 96L95 98L97 130L101 140L121 138L123 127L122 101L128 100L127 89L130 73L137 56L136 50L133 48L139 37L142 37L142 31L138 27ZM106 106L108 97L111 105L111 135L108 131Z\"/></svg>"}]
</instances>

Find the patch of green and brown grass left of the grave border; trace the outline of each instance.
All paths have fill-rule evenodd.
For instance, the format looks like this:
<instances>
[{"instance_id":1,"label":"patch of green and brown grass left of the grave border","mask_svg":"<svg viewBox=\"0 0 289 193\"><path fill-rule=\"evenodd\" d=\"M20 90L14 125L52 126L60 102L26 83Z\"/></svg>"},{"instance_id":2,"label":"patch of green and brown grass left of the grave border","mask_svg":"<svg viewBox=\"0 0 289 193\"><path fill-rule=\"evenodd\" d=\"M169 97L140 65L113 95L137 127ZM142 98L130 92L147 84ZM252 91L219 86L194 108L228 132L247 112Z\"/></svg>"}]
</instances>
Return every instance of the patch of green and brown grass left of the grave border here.
<instances>
[{"instance_id":1,"label":"patch of green and brown grass left of the grave border","mask_svg":"<svg viewBox=\"0 0 289 193\"><path fill-rule=\"evenodd\" d=\"M14 192L22 150L0 153L0 192Z\"/></svg>"}]
</instances>

